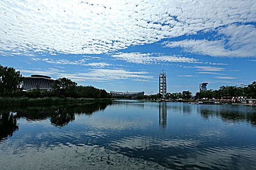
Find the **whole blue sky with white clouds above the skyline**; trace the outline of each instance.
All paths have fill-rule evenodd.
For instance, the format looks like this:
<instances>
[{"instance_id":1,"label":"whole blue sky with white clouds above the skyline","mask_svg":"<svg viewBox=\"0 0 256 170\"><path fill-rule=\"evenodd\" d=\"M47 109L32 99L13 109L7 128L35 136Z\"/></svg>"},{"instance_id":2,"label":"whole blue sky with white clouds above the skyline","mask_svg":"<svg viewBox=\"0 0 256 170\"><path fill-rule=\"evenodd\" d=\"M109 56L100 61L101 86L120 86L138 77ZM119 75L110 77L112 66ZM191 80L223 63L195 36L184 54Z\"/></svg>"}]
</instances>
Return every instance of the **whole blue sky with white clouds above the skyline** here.
<instances>
[{"instance_id":1,"label":"whole blue sky with white clouds above the skyline","mask_svg":"<svg viewBox=\"0 0 256 170\"><path fill-rule=\"evenodd\" d=\"M0 65L121 92L256 81L256 0L0 0Z\"/></svg>"}]
</instances>

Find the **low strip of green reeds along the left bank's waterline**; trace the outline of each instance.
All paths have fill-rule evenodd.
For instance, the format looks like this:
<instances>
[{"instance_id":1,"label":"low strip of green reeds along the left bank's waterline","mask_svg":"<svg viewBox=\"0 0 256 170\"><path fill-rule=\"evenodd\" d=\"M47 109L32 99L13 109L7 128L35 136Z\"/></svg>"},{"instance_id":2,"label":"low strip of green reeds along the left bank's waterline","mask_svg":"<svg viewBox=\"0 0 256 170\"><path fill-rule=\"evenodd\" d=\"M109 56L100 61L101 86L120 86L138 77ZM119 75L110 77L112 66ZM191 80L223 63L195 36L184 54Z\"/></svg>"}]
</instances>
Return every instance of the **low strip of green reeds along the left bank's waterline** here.
<instances>
[{"instance_id":1,"label":"low strip of green reeds along the left bank's waterline","mask_svg":"<svg viewBox=\"0 0 256 170\"><path fill-rule=\"evenodd\" d=\"M74 102L97 102L110 101L112 99L88 99L88 98L59 98L59 97L45 97L45 98L28 98L28 97L0 97L0 107L3 106L24 106L24 105L49 105L60 103L74 103Z\"/></svg>"}]
</instances>

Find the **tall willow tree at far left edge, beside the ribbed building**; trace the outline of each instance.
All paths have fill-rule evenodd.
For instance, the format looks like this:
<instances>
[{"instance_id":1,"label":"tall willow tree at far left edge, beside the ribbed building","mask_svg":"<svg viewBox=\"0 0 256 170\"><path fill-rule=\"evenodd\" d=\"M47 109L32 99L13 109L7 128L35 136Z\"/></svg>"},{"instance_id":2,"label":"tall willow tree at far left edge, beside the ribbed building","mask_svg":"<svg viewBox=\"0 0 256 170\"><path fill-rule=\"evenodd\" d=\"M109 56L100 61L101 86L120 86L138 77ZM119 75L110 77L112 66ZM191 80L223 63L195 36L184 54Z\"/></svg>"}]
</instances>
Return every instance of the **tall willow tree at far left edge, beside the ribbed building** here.
<instances>
[{"instance_id":1,"label":"tall willow tree at far left edge, beside the ribbed building","mask_svg":"<svg viewBox=\"0 0 256 170\"><path fill-rule=\"evenodd\" d=\"M12 96L14 92L20 90L22 81L20 71L0 65L0 96Z\"/></svg>"}]
</instances>

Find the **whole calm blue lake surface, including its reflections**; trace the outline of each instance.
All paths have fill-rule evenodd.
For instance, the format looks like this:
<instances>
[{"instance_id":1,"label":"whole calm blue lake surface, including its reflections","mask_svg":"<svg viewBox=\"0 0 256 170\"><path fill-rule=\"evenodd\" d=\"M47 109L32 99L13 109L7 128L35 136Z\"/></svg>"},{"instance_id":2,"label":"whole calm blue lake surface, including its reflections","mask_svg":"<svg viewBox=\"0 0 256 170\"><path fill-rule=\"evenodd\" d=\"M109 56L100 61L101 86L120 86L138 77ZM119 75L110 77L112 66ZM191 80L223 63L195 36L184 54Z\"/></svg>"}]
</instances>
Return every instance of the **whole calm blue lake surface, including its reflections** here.
<instances>
[{"instance_id":1,"label":"whole calm blue lake surface, including its reflections","mask_svg":"<svg viewBox=\"0 0 256 170\"><path fill-rule=\"evenodd\" d=\"M0 108L0 167L255 170L256 107L114 101Z\"/></svg>"}]
</instances>

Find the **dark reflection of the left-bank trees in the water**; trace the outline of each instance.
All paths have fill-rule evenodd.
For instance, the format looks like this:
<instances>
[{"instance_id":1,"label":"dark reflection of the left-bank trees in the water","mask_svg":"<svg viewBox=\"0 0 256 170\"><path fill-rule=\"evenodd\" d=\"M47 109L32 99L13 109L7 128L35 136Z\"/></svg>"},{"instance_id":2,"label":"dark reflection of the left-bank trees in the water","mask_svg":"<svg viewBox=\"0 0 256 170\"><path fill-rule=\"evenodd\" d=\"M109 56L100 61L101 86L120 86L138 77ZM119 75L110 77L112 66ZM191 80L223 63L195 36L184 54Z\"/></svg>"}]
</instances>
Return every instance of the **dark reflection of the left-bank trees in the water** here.
<instances>
[{"instance_id":1,"label":"dark reflection of the left-bank trees in the water","mask_svg":"<svg viewBox=\"0 0 256 170\"><path fill-rule=\"evenodd\" d=\"M12 136L19 129L17 119L25 118L30 121L50 119L53 125L62 127L75 120L76 114L92 115L94 112L104 110L109 104L112 104L112 102L1 108L0 141L7 139L8 136Z\"/></svg>"}]
</instances>

